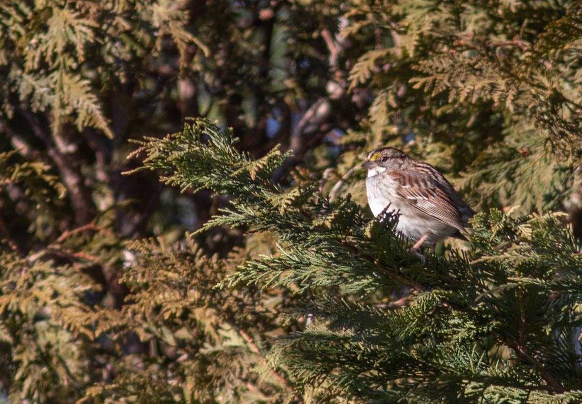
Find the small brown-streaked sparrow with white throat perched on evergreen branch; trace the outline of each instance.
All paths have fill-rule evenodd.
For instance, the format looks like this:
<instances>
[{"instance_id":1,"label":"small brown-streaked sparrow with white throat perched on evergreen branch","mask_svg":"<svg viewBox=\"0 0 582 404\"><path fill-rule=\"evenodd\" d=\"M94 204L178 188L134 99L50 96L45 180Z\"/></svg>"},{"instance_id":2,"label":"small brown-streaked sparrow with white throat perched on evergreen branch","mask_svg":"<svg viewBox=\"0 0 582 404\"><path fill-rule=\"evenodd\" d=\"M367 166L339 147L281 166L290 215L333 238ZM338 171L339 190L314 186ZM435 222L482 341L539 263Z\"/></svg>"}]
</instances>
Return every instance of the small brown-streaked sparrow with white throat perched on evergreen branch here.
<instances>
[{"instance_id":1,"label":"small brown-streaked sparrow with white throat perched on evergreen branch","mask_svg":"<svg viewBox=\"0 0 582 404\"><path fill-rule=\"evenodd\" d=\"M467 240L463 233L471 227L475 211L432 165L402 150L381 147L370 151L361 166L368 170L366 194L372 213L399 214L396 231L416 240L412 253L424 258L417 253L423 244L434 246L448 237Z\"/></svg>"}]
</instances>

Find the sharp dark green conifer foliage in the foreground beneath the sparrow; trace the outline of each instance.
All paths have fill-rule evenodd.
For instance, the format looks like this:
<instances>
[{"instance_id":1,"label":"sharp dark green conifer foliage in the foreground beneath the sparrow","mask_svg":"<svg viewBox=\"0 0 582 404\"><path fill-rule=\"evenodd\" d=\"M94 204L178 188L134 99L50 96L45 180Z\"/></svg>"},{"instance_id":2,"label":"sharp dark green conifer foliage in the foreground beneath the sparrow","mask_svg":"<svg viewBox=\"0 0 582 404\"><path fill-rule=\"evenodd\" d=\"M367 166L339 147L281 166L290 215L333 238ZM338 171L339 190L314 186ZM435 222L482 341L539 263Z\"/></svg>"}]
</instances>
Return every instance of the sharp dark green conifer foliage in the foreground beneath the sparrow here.
<instances>
[{"instance_id":1,"label":"sharp dark green conifer foliage in the foreground beneath the sparrow","mask_svg":"<svg viewBox=\"0 0 582 404\"><path fill-rule=\"evenodd\" d=\"M397 218L363 219L359 205L329 201L311 185L283 191L253 180L254 162L233 155L232 144L228 131L198 120L139 153L147 153L145 168L164 169L166 182L229 192L232 205L206 228L245 225L278 239L277 254L246 261L221 285L311 292L289 312L310 325L277 338L269 356L297 392L315 385L316 396L332 389L370 402L582 399L573 340L582 261L562 214L478 214L470 254L428 254L423 267L393 234ZM218 161L219 176L207 169Z\"/></svg>"}]
</instances>

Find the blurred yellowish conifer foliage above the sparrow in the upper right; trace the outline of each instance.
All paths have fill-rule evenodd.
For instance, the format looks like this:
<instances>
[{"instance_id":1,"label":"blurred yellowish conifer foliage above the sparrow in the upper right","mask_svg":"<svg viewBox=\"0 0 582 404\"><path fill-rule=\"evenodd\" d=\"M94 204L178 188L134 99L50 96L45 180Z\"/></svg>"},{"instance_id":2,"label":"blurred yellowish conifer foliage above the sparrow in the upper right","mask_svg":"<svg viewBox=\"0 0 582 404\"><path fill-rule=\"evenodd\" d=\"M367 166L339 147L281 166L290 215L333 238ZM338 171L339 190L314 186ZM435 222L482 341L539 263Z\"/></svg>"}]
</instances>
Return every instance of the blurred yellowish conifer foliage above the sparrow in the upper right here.
<instances>
[{"instance_id":1,"label":"blurred yellowish conifer foliage above the sparrow in the upper right","mask_svg":"<svg viewBox=\"0 0 582 404\"><path fill-rule=\"evenodd\" d=\"M345 36L377 33L350 72L375 97L360 160L388 141L462 177L474 207L563 208L581 147L579 8L354 3Z\"/></svg>"}]
</instances>

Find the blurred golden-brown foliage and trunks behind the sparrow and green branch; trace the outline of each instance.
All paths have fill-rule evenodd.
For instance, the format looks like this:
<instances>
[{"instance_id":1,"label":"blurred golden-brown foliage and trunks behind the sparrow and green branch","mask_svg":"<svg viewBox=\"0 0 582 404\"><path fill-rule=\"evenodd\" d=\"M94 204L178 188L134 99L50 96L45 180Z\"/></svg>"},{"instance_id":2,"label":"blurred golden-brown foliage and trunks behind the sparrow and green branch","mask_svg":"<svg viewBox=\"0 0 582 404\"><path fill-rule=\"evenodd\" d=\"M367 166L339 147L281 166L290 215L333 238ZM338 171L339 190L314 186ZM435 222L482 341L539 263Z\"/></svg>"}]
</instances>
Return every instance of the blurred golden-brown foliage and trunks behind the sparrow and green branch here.
<instances>
[{"instance_id":1,"label":"blurred golden-brown foliage and trunks behind the sparrow and green branch","mask_svg":"<svg viewBox=\"0 0 582 404\"><path fill-rule=\"evenodd\" d=\"M310 321L281 311L317 290L212 289L278 254L277 238L245 235L252 225L185 238L230 196L122 175L143 165L130 140L189 116L232 127L257 159L293 150L266 179L282 189L317 179L330 200L365 205L357 167L396 146L475 210L566 209L580 236L579 13L562 1L2 1L1 391L301 400L265 355Z\"/></svg>"}]
</instances>

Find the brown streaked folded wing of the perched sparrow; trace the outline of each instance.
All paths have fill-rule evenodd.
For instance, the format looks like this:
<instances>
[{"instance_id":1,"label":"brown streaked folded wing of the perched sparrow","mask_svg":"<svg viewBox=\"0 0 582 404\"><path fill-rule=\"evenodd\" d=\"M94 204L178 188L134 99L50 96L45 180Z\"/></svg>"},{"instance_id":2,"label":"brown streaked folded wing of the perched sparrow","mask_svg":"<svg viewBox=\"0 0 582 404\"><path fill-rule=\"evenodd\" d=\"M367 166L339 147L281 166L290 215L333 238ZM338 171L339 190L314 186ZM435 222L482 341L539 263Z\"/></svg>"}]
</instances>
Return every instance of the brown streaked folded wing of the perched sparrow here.
<instances>
[{"instance_id":1,"label":"brown streaked folded wing of the perched sparrow","mask_svg":"<svg viewBox=\"0 0 582 404\"><path fill-rule=\"evenodd\" d=\"M431 175L441 175L436 171L433 172L430 166L425 166L422 163L417 164L417 168L424 172L430 171ZM401 171L391 171L390 175L400 183L396 189L396 196L401 200L406 201L424 214L459 229L459 231L465 231L462 215L447 192L446 185L449 185L450 190L455 192L448 182L445 183L446 185L441 185L432 180L430 176L421 176L413 171L406 171L406 175ZM444 177L442 179L446 181Z\"/></svg>"}]
</instances>

